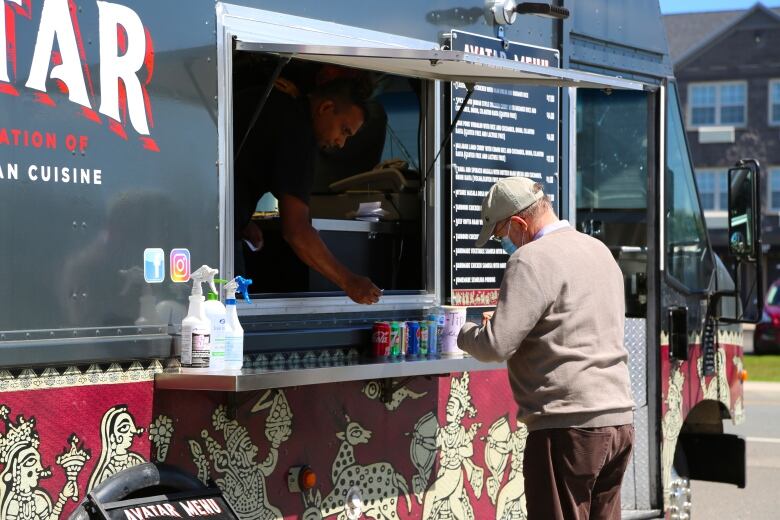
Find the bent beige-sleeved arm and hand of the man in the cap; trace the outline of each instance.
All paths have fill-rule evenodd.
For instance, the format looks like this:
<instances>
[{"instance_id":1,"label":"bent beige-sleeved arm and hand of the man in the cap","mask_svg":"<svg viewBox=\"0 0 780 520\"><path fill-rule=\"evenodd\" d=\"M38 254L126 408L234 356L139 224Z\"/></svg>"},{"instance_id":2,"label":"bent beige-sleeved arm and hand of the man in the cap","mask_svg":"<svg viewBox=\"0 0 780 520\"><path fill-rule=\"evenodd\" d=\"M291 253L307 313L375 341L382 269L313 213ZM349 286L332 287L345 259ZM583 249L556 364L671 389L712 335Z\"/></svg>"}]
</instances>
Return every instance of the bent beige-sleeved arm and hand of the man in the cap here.
<instances>
[{"instance_id":1,"label":"bent beige-sleeved arm and hand of the man in the cap","mask_svg":"<svg viewBox=\"0 0 780 520\"><path fill-rule=\"evenodd\" d=\"M531 266L510 259L493 317L482 327L465 324L458 335L458 347L480 361L505 361L551 303Z\"/></svg>"}]
</instances>

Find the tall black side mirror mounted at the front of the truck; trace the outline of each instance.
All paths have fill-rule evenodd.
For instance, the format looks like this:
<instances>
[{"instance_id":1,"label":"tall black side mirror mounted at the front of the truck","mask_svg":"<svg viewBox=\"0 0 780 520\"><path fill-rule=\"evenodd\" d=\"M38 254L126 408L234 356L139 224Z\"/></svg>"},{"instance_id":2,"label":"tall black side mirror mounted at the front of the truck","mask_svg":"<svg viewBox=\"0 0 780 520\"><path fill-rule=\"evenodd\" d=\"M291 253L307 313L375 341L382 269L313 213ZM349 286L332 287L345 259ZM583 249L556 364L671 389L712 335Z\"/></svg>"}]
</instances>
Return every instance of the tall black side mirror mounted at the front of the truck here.
<instances>
[{"instance_id":1,"label":"tall black side mirror mounted at the front of the truck","mask_svg":"<svg viewBox=\"0 0 780 520\"><path fill-rule=\"evenodd\" d=\"M720 321L758 323L764 308L761 247L761 169L743 159L728 173L729 273L733 287L719 287L713 304Z\"/></svg>"}]
</instances>

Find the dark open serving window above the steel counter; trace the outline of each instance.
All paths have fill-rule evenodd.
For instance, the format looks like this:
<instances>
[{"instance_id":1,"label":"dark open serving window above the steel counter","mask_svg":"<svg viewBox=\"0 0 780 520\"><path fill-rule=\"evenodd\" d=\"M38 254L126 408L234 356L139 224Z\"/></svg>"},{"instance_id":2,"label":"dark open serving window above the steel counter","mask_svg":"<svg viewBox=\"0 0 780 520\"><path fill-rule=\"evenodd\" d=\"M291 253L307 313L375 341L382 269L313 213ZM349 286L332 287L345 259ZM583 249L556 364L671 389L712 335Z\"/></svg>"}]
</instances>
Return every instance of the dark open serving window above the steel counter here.
<instances>
[{"instance_id":1,"label":"dark open serving window above the steel counter","mask_svg":"<svg viewBox=\"0 0 780 520\"><path fill-rule=\"evenodd\" d=\"M363 122L344 141L321 146L312 140L315 111L322 85L327 91L337 81L360 91ZM285 236L289 216L276 198L285 195L305 203L336 261L370 278L385 298L424 295L429 215L420 158L421 134L432 119L426 117L430 82L236 50L232 83L233 271L254 280L258 305L312 296L344 303L336 283L309 267ZM247 203L253 206L248 212Z\"/></svg>"}]
</instances>

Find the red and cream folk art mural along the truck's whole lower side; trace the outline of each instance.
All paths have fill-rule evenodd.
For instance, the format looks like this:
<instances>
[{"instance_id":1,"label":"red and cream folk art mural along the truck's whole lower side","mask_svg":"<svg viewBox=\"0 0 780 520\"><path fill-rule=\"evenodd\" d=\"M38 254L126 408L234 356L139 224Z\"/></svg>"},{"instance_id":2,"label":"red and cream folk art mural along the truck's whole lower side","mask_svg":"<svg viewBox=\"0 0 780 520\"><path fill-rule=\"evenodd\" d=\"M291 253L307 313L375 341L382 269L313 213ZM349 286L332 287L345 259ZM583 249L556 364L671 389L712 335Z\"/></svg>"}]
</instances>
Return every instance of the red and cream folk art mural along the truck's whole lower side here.
<instances>
[{"instance_id":1,"label":"red and cream folk art mural along the truck's whole lower side","mask_svg":"<svg viewBox=\"0 0 780 520\"><path fill-rule=\"evenodd\" d=\"M712 376L698 357L665 369L664 485L691 403L742 414L741 392L725 384L742 369L735 348L721 344ZM389 396L354 382L229 398L155 392L158 369L0 374L0 518L67 518L89 489L150 459L215 483L248 519L526 518L528 432L504 372L417 378ZM319 479L293 494L286 473L299 464Z\"/></svg>"}]
</instances>

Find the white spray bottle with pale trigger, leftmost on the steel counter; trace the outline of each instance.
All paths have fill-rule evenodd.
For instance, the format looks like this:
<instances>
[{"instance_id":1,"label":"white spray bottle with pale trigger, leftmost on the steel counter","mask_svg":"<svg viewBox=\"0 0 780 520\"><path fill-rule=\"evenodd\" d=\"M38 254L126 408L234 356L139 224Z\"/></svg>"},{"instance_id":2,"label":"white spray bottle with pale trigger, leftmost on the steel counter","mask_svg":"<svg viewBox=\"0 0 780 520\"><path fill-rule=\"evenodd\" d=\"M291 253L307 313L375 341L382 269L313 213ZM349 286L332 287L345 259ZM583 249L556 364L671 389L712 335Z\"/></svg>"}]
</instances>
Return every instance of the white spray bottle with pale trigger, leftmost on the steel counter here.
<instances>
[{"instance_id":1,"label":"white spray bottle with pale trigger, leftmost on the steel counter","mask_svg":"<svg viewBox=\"0 0 780 520\"><path fill-rule=\"evenodd\" d=\"M192 278L190 308L187 317L181 322L181 364L184 367L209 366L211 324L206 317L201 284L213 279L216 274L216 269L204 265L190 275Z\"/></svg>"}]
</instances>

